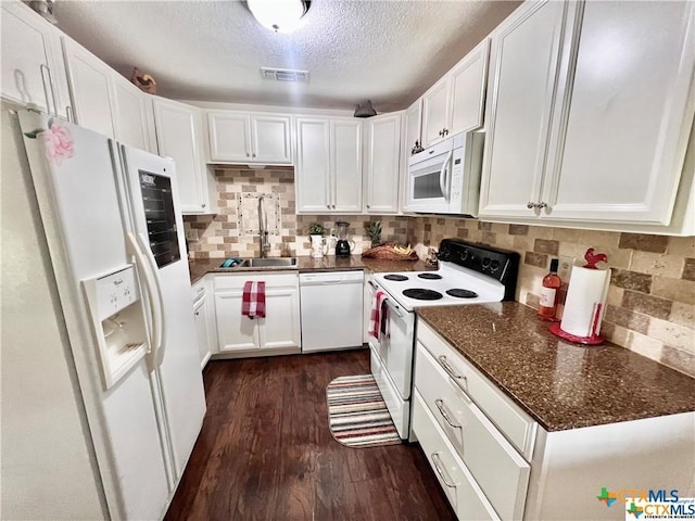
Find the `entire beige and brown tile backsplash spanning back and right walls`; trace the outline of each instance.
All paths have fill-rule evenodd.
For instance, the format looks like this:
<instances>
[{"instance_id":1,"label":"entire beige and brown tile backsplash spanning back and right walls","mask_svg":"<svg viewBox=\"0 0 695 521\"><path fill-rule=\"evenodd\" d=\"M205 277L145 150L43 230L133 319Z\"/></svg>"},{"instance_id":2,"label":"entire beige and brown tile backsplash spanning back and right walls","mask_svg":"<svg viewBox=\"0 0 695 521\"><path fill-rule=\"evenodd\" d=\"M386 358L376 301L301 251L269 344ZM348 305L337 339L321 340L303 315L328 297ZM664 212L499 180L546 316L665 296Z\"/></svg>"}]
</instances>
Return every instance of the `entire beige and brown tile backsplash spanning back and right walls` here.
<instances>
[{"instance_id":1,"label":"entire beige and brown tile backsplash spanning back and right walls","mask_svg":"<svg viewBox=\"0 0 695 521\"><path fill-rule=\"evenodd\" d=\"M516 300L538 307L551 258L581 262L594 247L612 268L602 334L611 342L695 377L695 238L482 223L457 217L295 215L292 168L216 170L219 209L215 216L186 216L191 258L257 256L257 234L239 229L237 199L244 192L280 199L279 234L269 236L268 256L311 254L306 229L337 220L351 224L355 253L370 245L366 227L379 220L381 240L412 243L421 257L445 237L513 250L521 255ZM566 282L566 281L565 281ZM561 314L565 291L560 291ZM637 377L639 378L639 377Z\"/></svg>"}]
</instances>

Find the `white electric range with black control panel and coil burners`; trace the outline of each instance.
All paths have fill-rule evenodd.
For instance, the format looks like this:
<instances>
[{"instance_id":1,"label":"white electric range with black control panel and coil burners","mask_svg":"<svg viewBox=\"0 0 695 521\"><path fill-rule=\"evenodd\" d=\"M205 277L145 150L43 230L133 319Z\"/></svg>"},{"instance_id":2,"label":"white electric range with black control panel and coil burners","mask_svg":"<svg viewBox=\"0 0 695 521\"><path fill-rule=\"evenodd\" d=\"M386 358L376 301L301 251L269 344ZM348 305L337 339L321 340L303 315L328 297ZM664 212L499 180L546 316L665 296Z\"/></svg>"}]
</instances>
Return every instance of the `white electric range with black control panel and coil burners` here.
<instances>
[{"instance_id":1,"label":"white electric range with black control panel and coil burners","mask_svg":"<svg viewBox=\"0 0 695 521\"><path fill-rule=\"evenodd\" d=\"M414 309L514 300L518 269L518 253L444 239L438 270L376 274L368 281L372 307L383 293L379 336L369 335L371 373L402 439L410 432Z\"/></svg>"}]
</instances>

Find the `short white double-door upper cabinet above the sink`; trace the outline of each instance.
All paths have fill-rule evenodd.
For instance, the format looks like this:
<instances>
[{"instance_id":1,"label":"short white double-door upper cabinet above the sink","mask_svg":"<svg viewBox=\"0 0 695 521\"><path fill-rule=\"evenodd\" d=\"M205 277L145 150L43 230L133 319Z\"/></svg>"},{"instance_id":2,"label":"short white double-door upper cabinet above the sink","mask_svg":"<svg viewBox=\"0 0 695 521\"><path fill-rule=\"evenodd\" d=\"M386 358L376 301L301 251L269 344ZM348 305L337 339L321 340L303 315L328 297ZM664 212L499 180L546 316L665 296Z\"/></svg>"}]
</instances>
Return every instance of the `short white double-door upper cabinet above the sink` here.
<instances>
[{"instance_id":1,"label":"short white double-door upper cabinet above the sink","mask_svg":"<svg viewBox=\"0 0 695 521\"><path fill-rule=\"evenodd\" d=\"M283 114L207 112L213 163L292 164L291 118Z\"/></svg>"}]
</instances>

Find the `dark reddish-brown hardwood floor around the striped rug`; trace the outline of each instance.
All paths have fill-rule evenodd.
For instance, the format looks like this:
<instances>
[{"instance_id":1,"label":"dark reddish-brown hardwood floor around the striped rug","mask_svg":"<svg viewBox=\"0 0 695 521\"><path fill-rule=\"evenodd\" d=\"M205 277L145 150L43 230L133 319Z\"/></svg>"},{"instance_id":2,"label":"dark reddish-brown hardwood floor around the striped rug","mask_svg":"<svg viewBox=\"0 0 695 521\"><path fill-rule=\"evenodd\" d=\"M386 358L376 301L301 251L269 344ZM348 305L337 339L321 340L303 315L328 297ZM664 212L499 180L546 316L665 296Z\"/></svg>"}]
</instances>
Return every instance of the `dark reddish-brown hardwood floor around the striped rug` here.
<instances>
[{"instance_id":1,"label":"dark reddish-brown hardwood floor around the striped rug","mask_svg":"<svg viewBox=\"0 0 695 521\"><path fill-rule=\"evenodd\" d=\"M368 350L211 361L203 430L165 520L453 520L417 444L349 448L326 385Z\"/></svg>"}]
</instances>

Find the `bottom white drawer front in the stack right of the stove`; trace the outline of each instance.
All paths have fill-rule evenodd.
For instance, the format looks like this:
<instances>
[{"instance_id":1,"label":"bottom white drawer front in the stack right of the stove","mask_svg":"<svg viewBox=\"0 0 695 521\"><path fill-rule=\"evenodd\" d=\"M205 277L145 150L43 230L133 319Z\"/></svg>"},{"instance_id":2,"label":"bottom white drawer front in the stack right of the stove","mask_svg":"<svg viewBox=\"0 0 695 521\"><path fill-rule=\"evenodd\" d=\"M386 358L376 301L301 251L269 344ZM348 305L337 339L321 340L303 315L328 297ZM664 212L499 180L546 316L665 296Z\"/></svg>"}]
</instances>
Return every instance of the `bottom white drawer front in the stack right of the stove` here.
<instances>
[{"instance_id":1,"label":"bottom white drawer front in the stack right of the stove","mask_svg":"<svg viewBox=\"0 0 695 521\"><path fill-rule=\"evenodd\" d=\"M413 394L413 431L460 520L500 519L455 449L437 428L422 397Z\"/></svg>"}]
</instances>

